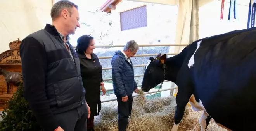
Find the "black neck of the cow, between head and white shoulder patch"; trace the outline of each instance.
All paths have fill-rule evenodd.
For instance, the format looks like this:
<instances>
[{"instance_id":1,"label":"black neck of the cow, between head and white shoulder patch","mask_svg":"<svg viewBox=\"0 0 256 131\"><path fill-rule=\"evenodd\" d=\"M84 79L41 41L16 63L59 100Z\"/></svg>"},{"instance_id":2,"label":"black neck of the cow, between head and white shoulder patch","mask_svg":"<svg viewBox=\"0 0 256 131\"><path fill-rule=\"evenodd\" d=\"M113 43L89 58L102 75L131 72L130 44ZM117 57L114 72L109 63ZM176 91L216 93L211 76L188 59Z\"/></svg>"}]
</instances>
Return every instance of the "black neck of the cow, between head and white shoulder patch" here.
<instances>
[{"instance_id":1,"label":"black neck of the cow, between head and white shoulder patch","mask_svg":"<svg viewBox=\"0 0 256 131\"><path fill-rule=\"evenodd\" d=\"M178 72L180 71L186 57L187 50L183 49L178 55L166 59L166 80L172 81L176 84Z\"/></svg>"}]
</instances>

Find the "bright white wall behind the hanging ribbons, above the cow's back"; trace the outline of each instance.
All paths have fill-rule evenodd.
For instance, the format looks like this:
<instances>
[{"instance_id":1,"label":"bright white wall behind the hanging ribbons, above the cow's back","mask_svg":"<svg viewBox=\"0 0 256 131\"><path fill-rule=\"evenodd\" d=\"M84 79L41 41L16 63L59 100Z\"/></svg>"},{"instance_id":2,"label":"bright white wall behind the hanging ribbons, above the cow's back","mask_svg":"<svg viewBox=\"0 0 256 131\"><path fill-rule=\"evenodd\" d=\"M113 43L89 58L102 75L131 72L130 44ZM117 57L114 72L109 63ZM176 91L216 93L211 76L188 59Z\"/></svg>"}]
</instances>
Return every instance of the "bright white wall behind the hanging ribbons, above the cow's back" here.
<instances>
[{"instance_id":1,"label":"bright white wall behind the hanging ribbons, above the cow's back","mask_svg":"<svg viewBox=\"0 0 256 131\"><path fill-rule=\"evenodd\" d=\"M199 39L232 30L247 28L249 0L236 0L236 20L228 20L229 2L225 0L223 20L220 20L221 0L214 0L199 8ZM243 2L243 3L242 3ZM243 5L241 5L242 3ZM231 15L233 16L233 15ZM230 17L233 19L233 17Z\"/></svg>"}]
</instances>

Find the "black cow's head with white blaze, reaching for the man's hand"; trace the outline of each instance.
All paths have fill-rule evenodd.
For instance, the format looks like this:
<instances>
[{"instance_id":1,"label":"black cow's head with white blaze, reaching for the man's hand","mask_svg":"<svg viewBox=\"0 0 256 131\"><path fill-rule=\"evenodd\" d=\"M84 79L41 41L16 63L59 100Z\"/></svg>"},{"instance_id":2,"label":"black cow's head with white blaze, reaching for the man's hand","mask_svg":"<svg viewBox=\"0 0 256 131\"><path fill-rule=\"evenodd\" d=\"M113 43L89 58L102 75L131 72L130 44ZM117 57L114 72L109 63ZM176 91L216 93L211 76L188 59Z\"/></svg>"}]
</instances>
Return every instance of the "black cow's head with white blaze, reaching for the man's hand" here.
<instances>
[{"instance_id":1,"label":"black cow's head with white blaze, reaching for the man's hand","mask_svg":"<svg viewBox=\"0 0 256 131\"><path fill-rule=\"evenodd\" d=\"M142 81L142 91L148 92L162 81L164 81L164 62L166 54L159 53L156 58L150 57Z\"/></svg>"}]
</instances>

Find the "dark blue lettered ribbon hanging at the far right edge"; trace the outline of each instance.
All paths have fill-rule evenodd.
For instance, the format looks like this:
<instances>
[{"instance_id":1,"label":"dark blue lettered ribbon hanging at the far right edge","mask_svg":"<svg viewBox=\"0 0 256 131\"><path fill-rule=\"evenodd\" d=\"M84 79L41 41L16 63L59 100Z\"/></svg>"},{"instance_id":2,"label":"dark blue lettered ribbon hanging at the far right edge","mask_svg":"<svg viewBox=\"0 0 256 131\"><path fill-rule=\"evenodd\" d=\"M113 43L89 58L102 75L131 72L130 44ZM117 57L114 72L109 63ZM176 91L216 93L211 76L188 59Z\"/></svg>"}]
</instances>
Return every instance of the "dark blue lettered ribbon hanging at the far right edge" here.
<instances>
[{"instance_id":1,"label":"dark blue lettered ribbon hanging at the far right edge","mask_svg":"<svg viewBox=\"0 0 256 131\"><path fill-rule=\"evenodd\" d=\"M250 0L248 11L247 29L255 25L256 0Z\"/></svg>"}]
</instances>

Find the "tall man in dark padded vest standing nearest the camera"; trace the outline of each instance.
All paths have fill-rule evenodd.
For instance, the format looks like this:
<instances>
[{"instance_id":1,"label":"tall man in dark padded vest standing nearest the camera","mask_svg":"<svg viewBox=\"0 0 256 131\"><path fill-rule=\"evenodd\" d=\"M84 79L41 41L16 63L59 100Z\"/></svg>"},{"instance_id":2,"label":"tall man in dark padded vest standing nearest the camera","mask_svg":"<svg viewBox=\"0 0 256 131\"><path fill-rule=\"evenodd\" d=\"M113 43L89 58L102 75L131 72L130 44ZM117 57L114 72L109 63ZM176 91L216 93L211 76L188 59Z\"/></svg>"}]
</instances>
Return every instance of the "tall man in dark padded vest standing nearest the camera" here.
<instances>
[{"instance_id":1,"label":"tall man in dark padded vest standing nearest the camera","mask_svg":"<svg viewBox=\"0 0 256 131\"><path fill-rule=\"evenodd\" d=\"M21 42L24 97L45 131L86 131L90 108L68 36L80 27L78 7L61 0L52 7L51 17L52 25Z\"/></svg>"}]
</instances>

